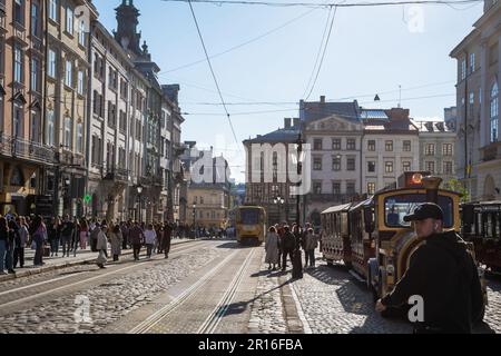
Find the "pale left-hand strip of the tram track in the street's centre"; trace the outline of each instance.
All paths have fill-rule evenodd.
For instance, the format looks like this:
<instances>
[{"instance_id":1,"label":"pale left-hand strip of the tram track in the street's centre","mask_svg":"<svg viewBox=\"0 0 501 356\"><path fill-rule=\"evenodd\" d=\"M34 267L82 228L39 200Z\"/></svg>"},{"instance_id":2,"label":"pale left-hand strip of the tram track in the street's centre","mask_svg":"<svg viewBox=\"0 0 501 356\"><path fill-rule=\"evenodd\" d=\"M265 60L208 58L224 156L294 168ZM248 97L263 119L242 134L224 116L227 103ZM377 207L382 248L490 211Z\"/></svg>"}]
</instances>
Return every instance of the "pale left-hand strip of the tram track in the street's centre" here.
<instances>
[{"instance_id":1,"label":"pale left-hand strip of the tram track in the street's centre","mask_svg":"<svg viewBox=\"0 0 501 356\"><path fill-rule=\"evenodd\" d=\"M127 334L145 334L149 329L151 329L155 325L157 325L163 318L169 315L175 308L177 308L183 301L185 301L189 296L191 296L196 290L198 290L210 277L216 275L216 273L235 255L237 250L233 251L225 259L223 259L219 264L217 264L213 269L206 273L198 281L191 285L188 289L183 291L176 299L170 301L168 305L159 309L158 312L151 314L148 318L146 318L143 323L138 324Z\"/></svg>"}]
</instances>

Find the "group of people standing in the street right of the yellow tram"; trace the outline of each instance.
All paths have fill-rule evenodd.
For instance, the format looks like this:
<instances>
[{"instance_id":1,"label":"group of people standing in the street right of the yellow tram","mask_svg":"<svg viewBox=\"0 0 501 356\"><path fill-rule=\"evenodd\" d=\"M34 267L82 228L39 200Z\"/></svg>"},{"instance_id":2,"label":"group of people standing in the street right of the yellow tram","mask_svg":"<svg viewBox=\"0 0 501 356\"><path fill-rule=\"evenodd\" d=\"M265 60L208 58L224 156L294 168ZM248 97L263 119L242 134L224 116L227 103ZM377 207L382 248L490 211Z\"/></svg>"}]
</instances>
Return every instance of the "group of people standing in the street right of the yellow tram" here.
<instances>
[{"instance_id":1,"label":"group of people standing in the street right of the yellow tram","mask_svg":"<svg viewBox=\"0 0 501 356\"><path fill-rule=\"evenodd\" d=\"M315 234L311 224L301 227L294 224L292 227L286 222L269 227L265 240L266 257L269 270L282 270L287 268L287 257L291 264L297 257L301 265L301 249L305 253L305 268L315 267L315 249L318 247L320 237ZM301 266L301 268L303 268Z\"/></svg>"}]
</instances>

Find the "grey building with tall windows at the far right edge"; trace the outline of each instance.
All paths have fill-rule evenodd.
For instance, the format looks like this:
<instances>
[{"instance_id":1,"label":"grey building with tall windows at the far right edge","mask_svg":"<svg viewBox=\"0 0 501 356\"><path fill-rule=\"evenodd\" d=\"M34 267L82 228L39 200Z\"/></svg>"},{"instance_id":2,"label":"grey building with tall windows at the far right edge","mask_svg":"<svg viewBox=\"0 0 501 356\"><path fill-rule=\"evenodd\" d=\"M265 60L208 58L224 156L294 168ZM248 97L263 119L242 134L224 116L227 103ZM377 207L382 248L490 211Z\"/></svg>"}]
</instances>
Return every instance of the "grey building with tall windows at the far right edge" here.
<instances>
[{"instance_id":1,"label":"grey building with tall windows at the far right edge","mask_svg":"<svg viewBox=\"0 0 501 356\"><path fill-rule=\"evenodd\" d=\"M500 19L500 2L485 0L474 29L450 55L458 63L456 172L472 200L501 198Z\"/></svg>"}]
</instances>

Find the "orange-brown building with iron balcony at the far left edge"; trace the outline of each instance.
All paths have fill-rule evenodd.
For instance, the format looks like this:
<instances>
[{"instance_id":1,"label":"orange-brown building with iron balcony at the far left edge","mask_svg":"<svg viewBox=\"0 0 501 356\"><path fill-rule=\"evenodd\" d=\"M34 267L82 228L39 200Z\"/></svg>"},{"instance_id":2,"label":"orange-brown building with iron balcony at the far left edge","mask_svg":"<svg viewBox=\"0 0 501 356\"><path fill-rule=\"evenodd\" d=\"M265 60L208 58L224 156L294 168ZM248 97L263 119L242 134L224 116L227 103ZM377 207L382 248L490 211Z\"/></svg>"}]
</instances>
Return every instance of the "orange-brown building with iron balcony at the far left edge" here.
<instances>
[{"instance_id":1,"label":"orange-brown building with iron balcony at the far left edge","mask_svg":"<svg viewBox=\"0 0 501 356\"><path fill-rule=\"evenodd\" d=\"M55 152L43 145L45 12L45 1L0 1L0 214L33 212L35 197L55 186Z\"/></svg>"}]
</instances>

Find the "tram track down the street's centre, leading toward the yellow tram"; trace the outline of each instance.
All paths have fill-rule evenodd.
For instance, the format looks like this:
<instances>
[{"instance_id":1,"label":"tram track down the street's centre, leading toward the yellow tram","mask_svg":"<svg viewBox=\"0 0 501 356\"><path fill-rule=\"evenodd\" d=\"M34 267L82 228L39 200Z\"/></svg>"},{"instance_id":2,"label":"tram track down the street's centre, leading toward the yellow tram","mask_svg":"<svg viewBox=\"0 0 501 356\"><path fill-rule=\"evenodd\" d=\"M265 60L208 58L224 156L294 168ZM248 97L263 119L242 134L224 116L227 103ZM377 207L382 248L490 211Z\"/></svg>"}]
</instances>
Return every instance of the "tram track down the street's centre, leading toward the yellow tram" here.
<instances>
[{"instance_id":1,"label":"tram track down the street's centre, leading toward the yellow tram","mask_svg":"<svg viewBox=\"0 0 501 356\"><path fill-rule=\"evenodd\" d=\"M186 288L169 304L165 305L164 307L151 314L149 317L144 319L141 323L137 324L132 329L128 332L128 334L158 333L158 329L161 329L161 325L170 324L170 316L183 314L184 308L189 309L188 306L195 306L196 303L194 301L197 298L200 298L200 296L206 296L206 298L208 299L210 296L210 291L208 289L217 284L217 279L220 279L223 278L222 276L224 276L220 271L224 270L225 267L230 267L232 263L237 263L239 257L244 255L242 254L242 251L243 250L232 251L210 270L208 270L204 276L202 276L195 284ZM212 304L210 307L207 308L207 313L205 313L206 310L203 310L203 313L200 312L203 314L203 317L197 320L197 323L200 323L200 326L197 330L194 332L198 334L215 333L230 303L233 301L238 287L244 279L246 271L248 270L254 255L255 249L250 249L244 257L244 261L240 263L240 266L232 278L230 283L225 286L223 296L217 299L217 303ZM226 268L226 270L232 269Z\"/></svg>"}]
</instances>

